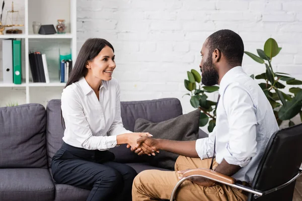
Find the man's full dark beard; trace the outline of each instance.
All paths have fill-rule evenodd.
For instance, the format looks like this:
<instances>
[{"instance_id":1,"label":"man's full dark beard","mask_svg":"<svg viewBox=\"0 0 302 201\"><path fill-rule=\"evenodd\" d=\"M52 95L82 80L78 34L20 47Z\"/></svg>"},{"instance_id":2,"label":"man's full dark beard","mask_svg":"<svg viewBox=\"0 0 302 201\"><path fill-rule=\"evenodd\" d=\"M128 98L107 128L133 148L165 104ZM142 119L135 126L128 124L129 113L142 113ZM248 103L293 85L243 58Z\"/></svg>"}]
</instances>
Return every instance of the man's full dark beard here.
<instances>
[{"instance_id":1,"label":"man's full dark beard","mask_svg":"<svg viewBox=\"0 0 302 201\"><path fill-rule=\"evenodd\" d=\"M214 68L212 58L208 57L203 64L201 83L206 86L213 86L215 84L218 84L218 80L219 75L217 70Z\"/></svg>"}]
</instances>

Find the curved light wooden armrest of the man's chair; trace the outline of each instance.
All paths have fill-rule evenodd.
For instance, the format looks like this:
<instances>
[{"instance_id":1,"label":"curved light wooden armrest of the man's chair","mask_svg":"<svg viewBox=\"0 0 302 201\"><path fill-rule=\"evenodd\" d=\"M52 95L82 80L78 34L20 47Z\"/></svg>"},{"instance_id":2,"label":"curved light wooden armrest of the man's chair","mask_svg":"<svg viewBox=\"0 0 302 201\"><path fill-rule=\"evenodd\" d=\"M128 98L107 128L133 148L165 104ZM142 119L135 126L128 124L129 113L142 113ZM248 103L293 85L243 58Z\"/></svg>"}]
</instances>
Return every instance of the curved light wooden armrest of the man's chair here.
<instances>
[{"instance_id":1,"label":"curved light wooden armrest of the man's chair","mask_svg":"<svg viewBox=\"0 0 302 201\"><path fill-rule=\"evenodd\" d=\"M227 175L221 174L219 172L216 172L214 170L206 169L206 168L190 169L186 173L183 174L184 177L187 177L190 175L202 175L202 176L206 176L208 178L213 178L213 179L223 181L223 182L229 183L229 184L234 184L236 182L236 179L234 179L231 176L227 176Z\"/></svg>"}]
</instances>

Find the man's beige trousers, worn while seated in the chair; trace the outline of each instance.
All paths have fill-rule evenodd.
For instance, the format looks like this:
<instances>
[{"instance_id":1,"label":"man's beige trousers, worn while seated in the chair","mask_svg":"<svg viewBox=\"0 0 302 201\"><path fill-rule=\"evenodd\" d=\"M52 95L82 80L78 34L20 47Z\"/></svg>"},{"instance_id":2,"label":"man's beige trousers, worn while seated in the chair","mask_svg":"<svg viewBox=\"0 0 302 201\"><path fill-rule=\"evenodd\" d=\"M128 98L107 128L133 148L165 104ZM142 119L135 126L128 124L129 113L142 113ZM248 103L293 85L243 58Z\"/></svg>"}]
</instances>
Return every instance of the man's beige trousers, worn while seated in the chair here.
<instances>
[{"instance_id":1,"label":"man's beige trousers, worn while seated in the chair","mask_svg":"<svg viewBox=\"0 0 302 201\"><path fill-rule=\"evenodd\" d=\"M172 190L179 181L178 170L209 168L212 159L200 160L200 158L190 158L179 156L175 163L175 171L145 170L140 172L134 179L132 185L132 200L147 201L170 199ZM218 164L213 163L213 168ZM245 201L247 196L242 190L224 184L203 187L185 181L179 188L176 201Z\"/></svg>"}]
</instances>

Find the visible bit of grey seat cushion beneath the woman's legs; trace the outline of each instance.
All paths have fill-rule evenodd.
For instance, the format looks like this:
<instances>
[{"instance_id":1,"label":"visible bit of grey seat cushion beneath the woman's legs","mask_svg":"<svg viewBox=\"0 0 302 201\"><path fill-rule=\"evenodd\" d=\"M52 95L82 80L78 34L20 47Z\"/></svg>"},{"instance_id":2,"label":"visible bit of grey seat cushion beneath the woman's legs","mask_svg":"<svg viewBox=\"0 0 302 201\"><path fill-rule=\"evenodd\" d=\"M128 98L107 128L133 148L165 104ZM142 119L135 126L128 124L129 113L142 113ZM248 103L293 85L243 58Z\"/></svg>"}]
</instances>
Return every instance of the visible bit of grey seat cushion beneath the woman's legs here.
<instances>
[{"instance_id":1,"label":"visible bit of grey seat cushion beneath the woman's legs","mask_svg":"<svg viewBox=\"0 0 302 201\"><path fill-rule=\"evenodd\" d=\"M55 201L84 201L87 199L90 190L75 187L72 185L55 184Z\"/></svg>"}]
</instances>

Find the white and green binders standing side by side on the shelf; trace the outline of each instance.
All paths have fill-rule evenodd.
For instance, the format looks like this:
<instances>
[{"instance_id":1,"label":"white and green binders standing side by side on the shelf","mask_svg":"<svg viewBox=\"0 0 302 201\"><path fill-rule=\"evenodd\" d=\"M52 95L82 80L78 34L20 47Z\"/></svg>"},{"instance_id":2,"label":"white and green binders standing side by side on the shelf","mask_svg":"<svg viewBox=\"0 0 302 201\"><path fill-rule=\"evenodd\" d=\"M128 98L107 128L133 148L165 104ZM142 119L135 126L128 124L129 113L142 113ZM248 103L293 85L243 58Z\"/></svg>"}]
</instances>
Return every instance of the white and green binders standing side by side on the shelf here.
<instances>
[{"instance_id":1,"label":"white and green binders standing side by side on the shelf","mask_svg":"<svg viewBox=\"0 0 302 201\"><path fill-rule=\"evenodd\" d=\"M6 39L2 41L3 82L21 84L22 58L21 40Z\"/></svg>"}]
</instances>

